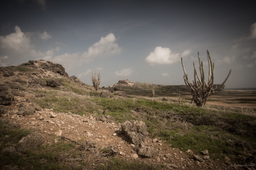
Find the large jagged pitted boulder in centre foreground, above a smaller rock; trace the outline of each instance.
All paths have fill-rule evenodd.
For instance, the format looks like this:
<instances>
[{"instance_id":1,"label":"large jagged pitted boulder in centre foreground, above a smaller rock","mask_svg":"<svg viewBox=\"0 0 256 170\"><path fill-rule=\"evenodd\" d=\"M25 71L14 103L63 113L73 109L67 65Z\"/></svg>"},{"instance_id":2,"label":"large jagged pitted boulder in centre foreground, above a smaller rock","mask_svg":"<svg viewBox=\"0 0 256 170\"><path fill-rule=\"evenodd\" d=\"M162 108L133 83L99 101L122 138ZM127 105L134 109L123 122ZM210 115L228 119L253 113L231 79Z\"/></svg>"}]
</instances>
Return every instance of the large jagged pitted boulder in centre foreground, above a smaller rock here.
<instances>
[{"instance_id":1,"label":"large jagged pitted boulder in centre foreground, above a smaller rock","mask_svg":"<svg viewBox=\"0 0 256 170\"><path fill-rule=\"evenodd\" d=\"M122 131L125 136L136 146L139 147L141 142L144 142L146 135L149 133L146 131L146 124L138 121L125 121L121 125Z\"/></svg>"}]
</instances>

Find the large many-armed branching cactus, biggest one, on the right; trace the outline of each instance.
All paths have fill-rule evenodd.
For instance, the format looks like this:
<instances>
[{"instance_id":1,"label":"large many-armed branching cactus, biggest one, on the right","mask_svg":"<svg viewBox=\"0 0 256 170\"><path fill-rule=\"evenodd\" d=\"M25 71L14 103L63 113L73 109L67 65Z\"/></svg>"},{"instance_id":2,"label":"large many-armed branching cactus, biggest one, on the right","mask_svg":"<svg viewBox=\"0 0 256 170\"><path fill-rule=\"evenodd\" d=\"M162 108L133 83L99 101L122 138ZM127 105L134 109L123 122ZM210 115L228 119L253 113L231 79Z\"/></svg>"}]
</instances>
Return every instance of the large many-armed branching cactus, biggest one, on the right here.
<instances>
[{"instance_id":1,"label":"large many-armed branching cactus, biggest one, on the right","mask_svg":"<svg viewBox=\"0 0 256 170\"><path fill-rule=\"evenodd\" d=\"M208 57L208 63L209 63L208 83L206 83L206 81L205 81L204 65L203 65L203 61L200 61L200 56L199 56L199 52L198 52L199 71L200 71L201 78L199 77L199 74L196 71L195 63L193 62L193 65L194 65L193 84L191 84L188 80L188 75L186 74L186 71L185 71L185 68L183 65L183 60L181 57L181 64L182 64L183 71L184 71L183 79L185 81L186 86L188 86L188 88L190 89L190 92L192 94L191 104L192 104L192 101L194 101L196 103L197 107L204 107L204 105L206 104L206 100L209 98L209 96L211 96L214 93L214 91L218 91L219 88L221 88L225 84L225 82L227 81L228 77L231 74L231 69L230 69L229 74L227 75L227 78L225 79L225 81L223 81L223 83L220 86L217 86L215 89L213 89L214 63L212 63L212 59L211 59L211 56L210 56L210 53L208 50L207 50L207 57ZM196 77L197 77L198 81L196 81Z\"/></svg>"}]
</instances>

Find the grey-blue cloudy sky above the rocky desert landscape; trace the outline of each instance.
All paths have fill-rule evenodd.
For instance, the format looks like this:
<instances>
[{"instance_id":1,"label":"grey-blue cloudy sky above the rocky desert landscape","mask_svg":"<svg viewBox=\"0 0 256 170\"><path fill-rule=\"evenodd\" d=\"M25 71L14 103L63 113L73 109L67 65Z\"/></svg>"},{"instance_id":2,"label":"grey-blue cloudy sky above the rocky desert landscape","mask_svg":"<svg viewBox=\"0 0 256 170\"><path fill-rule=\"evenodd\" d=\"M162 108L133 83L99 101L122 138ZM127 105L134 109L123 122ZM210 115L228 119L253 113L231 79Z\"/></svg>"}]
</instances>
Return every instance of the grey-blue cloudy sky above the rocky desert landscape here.
<instances>
[{"instance_id":1,"label":"grey-blue cloudy sky above the rocky desert landscape","mask_svg":"<svg viewBox=\"0 0 256 170\"><path fill-rule=\"evenodd\" d=\"M100 86L118 80L184 85L209 50L214 84L256 87L256 2L191 0L5 0L0 2L0 66L43 59Z\"/></svg>"}]
</instances>

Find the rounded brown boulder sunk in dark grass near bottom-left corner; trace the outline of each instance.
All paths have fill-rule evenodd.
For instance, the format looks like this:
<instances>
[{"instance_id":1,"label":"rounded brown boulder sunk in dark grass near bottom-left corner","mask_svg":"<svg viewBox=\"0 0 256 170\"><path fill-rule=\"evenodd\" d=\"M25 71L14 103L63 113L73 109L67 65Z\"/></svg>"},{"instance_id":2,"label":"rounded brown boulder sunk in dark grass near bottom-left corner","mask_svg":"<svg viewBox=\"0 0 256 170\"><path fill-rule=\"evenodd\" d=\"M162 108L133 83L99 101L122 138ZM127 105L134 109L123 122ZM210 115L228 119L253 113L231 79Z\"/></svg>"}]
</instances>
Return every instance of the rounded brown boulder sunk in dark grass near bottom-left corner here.
<instances>
[{"instance_id":1,"label":"rounded brown boulder sunk in dark grass near bottom-left corner","mask_svg":"<svg viewBox=\"0 0 256 170\"><path fill-rule=\"evenodd\" d=\"M44 143L44 135L39 132L33 132L23 137L16 145L18 152L25 153L26 150L35 150Z\"/></svg>"}]
</instances>

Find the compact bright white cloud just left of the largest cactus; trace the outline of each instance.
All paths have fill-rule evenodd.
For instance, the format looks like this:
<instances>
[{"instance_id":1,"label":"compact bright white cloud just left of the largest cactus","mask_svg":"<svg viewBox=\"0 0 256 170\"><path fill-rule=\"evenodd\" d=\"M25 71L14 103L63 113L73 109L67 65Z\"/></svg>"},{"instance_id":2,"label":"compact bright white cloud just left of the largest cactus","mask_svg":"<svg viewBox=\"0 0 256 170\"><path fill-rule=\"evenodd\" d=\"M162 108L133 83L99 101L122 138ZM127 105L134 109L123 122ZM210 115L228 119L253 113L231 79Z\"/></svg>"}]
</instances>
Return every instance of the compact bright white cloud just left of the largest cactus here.
<instances>
[{"instance_id":1,"label":"compact bright white cloud just left of the largest cactus","mask_svg":"<svg viewBox=\"0 0 256 170\"><path fill-rule=\"evenodd\" d=\"M185 52L185 51L184 51ZM180 53L172 53L170 48L156 47L145 59L150 65L171 64L180 61Z\"/></svg>"}]
</instances>

